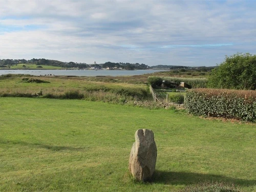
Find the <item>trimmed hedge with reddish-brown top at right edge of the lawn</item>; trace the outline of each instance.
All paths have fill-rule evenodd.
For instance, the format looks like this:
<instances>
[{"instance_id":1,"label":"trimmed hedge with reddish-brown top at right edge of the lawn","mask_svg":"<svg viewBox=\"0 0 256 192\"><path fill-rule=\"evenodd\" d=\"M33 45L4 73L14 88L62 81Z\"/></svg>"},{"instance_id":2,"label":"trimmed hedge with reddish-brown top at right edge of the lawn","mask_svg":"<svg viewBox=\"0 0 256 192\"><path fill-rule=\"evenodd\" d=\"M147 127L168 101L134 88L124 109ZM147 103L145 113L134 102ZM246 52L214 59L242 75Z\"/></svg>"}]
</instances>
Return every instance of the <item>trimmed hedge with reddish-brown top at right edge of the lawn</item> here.
<instances>
[{"instance_id":1,"label":"trimmed hedge with reddish-brown top at right edge of the lawn","mask_svg":"<svg viewBox=\"0 0 256 192\"><path fill-rule=\"evenodd\" d=\"M256 121L256 91L194 89L187 91L184 104L194 115Z\"/></svg>"}]
</instances>

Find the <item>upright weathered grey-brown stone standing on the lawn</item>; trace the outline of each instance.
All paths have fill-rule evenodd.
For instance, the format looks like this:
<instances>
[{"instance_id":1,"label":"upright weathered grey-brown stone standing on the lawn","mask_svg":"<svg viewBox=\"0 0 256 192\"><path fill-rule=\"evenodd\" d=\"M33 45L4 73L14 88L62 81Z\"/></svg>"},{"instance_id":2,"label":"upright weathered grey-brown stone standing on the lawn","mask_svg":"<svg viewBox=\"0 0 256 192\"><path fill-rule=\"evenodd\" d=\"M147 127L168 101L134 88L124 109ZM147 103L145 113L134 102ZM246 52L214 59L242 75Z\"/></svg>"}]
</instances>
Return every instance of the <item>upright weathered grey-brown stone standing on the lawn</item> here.
<instances>
[{"instance_id":1,"label":"upright weathered grey-brown stone standing on the lawn","mask_svg":"<svg viewBox=\"0 0 256 192\"><path fill-rule=\"evenodd\" d=\"M131 174L138 181L150 180L155 172L156 161L157 146L153 131L137 130L129 161Z\"/></svg>"}]
</instances>

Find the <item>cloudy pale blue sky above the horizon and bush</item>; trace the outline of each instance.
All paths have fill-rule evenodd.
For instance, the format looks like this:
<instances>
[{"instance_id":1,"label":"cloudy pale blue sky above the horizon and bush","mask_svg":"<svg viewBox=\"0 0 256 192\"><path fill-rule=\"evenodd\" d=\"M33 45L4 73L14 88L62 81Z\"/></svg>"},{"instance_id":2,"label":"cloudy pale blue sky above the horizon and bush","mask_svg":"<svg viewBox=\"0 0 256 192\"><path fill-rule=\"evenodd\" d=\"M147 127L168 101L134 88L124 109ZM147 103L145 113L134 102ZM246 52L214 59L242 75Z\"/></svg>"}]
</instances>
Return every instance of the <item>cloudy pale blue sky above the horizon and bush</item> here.
<instances>
[{"instance_id":1,"label":"cloudy pale blue sky above the horizon and bush","mask_svg":"<svg viewBox=\"0 0 256 192\"><path fill-rule=\"evenodd\" d=\"M216 66L256 52L254 0L0 0L0 59Z\"/></svg>"}]
</instances>

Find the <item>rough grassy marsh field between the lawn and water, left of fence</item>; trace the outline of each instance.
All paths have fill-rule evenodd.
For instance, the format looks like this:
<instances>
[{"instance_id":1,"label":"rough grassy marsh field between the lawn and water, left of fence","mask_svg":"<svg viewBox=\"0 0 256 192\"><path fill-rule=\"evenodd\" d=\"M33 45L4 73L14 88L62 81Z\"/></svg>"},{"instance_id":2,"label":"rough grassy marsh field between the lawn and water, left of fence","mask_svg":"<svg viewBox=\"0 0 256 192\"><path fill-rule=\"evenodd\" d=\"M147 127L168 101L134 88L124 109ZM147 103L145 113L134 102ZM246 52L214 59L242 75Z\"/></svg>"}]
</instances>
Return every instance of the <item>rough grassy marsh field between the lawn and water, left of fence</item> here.
<instances>
[{"instance_id":1,"label":"rough grassy marsh field between the lawn and water, left of fence","mask_svg":"<svg viewBox=\"0 0 256 192\"><path fill-rule=\"evenodd\" d=\"M0 76L1 97L42 97L123 102L151 100L146 84L90 81L82 77Z\"/></svg>"}]
</instances>

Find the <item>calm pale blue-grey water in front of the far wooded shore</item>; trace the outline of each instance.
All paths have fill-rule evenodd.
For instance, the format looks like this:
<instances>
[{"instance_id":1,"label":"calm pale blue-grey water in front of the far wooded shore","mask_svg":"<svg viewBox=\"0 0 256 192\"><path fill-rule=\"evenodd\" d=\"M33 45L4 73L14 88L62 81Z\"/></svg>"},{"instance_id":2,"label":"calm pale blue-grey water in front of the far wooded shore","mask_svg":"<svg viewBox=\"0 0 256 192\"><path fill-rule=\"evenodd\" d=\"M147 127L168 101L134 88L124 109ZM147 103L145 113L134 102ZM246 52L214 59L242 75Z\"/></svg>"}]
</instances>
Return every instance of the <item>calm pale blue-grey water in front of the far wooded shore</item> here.
<instances>
[{"instance_id":1,"label":"calm pale blue-grey water in front of the far wooded shore","mask_svg":"<svg viewBox=\"0 0 256 192\"><path fill-rule=\"evenodd\" d=\"M75 75L75 76L131 76L154 73L166 70L0 70L0 75L28 74L28 75Z\"/></svg>"}]
</instances>

